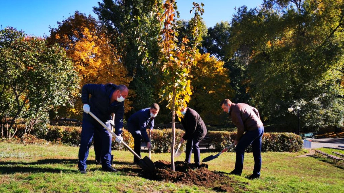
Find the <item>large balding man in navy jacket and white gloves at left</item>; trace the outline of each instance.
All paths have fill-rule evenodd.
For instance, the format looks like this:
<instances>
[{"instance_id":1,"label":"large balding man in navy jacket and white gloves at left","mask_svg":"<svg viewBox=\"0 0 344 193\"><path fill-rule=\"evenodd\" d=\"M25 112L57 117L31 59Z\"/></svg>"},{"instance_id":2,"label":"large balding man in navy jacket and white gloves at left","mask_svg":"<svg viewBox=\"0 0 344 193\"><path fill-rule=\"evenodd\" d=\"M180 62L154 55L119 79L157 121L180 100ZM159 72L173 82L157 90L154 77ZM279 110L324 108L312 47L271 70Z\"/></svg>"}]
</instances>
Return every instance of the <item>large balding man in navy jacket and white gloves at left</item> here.
<instances>
[{"instance_id":1,"label":"large balding man in navy jacket and white gloves at left","mask_svg":"<svg viewBox=\"0 0 344 193\"><path fill-rule=\"evenodd\" d=\"M81 173L86 173L86 160L88 157L89 147L95 132L101 139L101 165L103 170L117 172L118 170L111 167L111 138L109 132L101 126L93 117L88 115L92 112L103 122L109 122L111 113L115 113L115 133L118 135L116 141L120 143L123 127L124 102L128 95L128 88L125 85L115 85L112 83L103 84L86 84L82 88L83 106L83 123L81 131L81 142L79 148L78 167ZM89 98L89 95L91 97ZM110 125L108 124L110 127Z\"/></svg>"}]
</instances>

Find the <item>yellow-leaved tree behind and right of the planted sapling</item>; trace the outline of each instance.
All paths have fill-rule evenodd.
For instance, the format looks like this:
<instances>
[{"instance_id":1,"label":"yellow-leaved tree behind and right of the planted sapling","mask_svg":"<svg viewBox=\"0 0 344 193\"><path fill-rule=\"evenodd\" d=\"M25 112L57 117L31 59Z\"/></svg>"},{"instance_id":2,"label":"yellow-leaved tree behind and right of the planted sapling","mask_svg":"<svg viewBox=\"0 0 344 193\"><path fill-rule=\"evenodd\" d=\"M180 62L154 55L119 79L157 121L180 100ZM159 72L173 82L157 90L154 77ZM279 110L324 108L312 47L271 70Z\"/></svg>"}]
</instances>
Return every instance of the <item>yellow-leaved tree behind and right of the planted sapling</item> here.
<instances>
[{"instance_id":1,"label":"yellow-leaved tree behind and right of the planted sapling","mask_svg":"<svg viewBox=\"0 0 344 193\"><path fill-rule=\"evenodd\" d=\"M197 54L197 65L191 67L192 92L189 107L195 109L207 124L223 125L228 115L219 110L219 103L235 96L224 62L210 54Z\"/></svg>"}]
</instances>

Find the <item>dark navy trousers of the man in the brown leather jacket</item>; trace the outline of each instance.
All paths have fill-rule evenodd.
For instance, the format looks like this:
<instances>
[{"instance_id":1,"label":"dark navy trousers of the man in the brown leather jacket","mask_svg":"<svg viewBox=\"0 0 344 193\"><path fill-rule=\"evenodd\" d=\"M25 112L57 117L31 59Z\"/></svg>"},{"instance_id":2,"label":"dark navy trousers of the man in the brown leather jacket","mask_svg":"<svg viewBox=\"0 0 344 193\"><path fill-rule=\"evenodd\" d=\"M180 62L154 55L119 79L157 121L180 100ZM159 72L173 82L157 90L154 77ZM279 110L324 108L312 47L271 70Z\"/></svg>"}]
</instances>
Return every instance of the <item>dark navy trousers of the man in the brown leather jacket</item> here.
<instances>
[{"instance_id":1,"label":"dark navy trousers of the man in the brown leather jacket","mask_svg":"<svg viewBox=\"0 0 344 193\"><path fill-rule=\"evenodd\" d=\"M243 137L240 138L235 150L236 150L236 160L235 160L235 173L241 174L244 167L244 155L245 149L252 144L253 158L255 165L253 168L253 174L260 175L261 169L261 137L264 133L264 127L259 127L253 131L246 131Z\"/></svg>"}]
</instances>

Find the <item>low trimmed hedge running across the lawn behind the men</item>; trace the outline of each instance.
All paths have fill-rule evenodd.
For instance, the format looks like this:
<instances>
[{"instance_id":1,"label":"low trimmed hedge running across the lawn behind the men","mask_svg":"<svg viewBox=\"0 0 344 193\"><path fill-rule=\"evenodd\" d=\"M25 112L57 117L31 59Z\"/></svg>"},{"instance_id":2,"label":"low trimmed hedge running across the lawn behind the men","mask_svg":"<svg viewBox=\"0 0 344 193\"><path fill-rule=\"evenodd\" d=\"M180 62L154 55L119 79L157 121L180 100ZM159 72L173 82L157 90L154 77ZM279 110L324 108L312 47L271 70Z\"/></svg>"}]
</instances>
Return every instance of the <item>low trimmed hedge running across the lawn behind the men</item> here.
<instances>
[{"instance_id":1,"label":"low trimmed hedge running across the lawn behind the men","mask_svg":"<svg viewBox=\"0 0 344 193\"><path fill-rule=\"evenodd\" d=\"M178 146L178 142L184 134L181 129L176 129L176 141L175 146ZM33 131L34 133L34 131ZM79 146L81 138L81 127L68 127L68 126L48 126L48 131L44 135L44 140L51 141L55 144L68 144L71 146ZM229 131L208 131L207 136L209 142L215 148L214 151L222 151L224 148L234 142L236 132ZM124 141L133 148L134 139L128 130L123 129L122 137ZM33 137L23 136L21 141L30 143L28 139L34 139L34 143L37 143L37 139ZM19 138L20 139L20 138ZM18 138L14 141L18 141ZM152 152L165 153L171 152L171 139L172 129L154 129L152 132ZM44 143L40 141L38 143ZM185 151L185 142L182 144L180 150ZM274 152L297 152L302 150L303 140L300 136L293 133L264 133L262 136L262 152L274 151ZM118 144L115 138L112 138L113 150L127 150L123 145ZM234 152L234 148L228 151ZM251 146L246 149L247 152L252 152Z\"/></svg>"}]
</instances>

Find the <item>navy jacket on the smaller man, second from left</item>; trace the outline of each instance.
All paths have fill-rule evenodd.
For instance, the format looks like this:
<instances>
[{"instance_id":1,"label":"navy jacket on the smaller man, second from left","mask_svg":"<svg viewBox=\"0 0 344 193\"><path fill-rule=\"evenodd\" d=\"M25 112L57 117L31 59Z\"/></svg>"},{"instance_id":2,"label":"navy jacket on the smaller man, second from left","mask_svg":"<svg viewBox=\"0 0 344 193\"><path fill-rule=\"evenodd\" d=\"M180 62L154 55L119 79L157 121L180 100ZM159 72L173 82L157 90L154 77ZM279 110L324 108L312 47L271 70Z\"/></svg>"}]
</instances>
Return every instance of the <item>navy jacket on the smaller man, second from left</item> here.
<instances>
[{"instance_id":1,"label":"navy jacket on the smaller man, second from left","mask_svg":"<svg viewBox=\"0 0 344 193\"><path fill-rule=\"evenodd\" d=\"M149 141L146 128L149 127L150 129L153 129L154 127L154 118L151 118L149 109L150 108L145 108L135 112L129 117L127 124L129 132L140 130L141 135L146 142Z\"/></svg>"}]
</instances>

